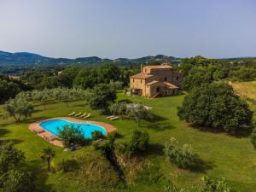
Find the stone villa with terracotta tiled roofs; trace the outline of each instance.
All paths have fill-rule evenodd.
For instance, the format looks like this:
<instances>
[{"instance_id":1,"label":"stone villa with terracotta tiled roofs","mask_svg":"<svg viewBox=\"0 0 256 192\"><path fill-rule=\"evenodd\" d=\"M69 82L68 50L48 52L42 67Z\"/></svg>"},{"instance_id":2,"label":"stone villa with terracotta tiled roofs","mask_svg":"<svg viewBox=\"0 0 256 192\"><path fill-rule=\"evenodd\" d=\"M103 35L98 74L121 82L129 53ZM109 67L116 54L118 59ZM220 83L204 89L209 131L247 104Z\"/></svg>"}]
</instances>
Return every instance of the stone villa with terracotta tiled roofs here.
<instances>
[{"instance_id":1,"label":"stone villa with terracotta tiled roofs","mask_svg":"<svg viewBox=\"0 0 256 192\"><path fill-rule=\"evenodd\" d=\"M178 94L182 74L172 66L141 66L141 73L130 77L130 89L133 94L147 97L173 96Z\"/></svg>"}]
</instances>

